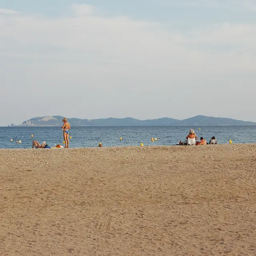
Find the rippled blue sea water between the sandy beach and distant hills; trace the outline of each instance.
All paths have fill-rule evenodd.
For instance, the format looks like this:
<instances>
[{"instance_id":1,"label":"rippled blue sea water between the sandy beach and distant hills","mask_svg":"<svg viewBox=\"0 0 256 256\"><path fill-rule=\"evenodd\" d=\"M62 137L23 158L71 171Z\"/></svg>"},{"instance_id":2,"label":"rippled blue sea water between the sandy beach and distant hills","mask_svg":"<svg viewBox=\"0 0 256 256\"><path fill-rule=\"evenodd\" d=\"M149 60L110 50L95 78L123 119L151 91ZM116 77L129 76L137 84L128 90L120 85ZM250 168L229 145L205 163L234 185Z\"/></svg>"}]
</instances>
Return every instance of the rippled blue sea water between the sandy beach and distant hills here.
<instances>
[{"instance_id":1,"label":"rippled blue sea water between the sandy beach and distant hills","mask_svg":"<svg viewBox=\"0 0 256 256\"><path fill-rule=\"evenodd\" d=\"M70 148L97 147L99 142L103 146L140 146L140 143L166 146L184 141L191 128L207 141L215 136L218 144L229 140L256 143L256 126L201 126L201 130L198 126L79 126L70 129ZM159 140L151 142L151 138ZM16 144L16 140L22 143ZM63 145L63 132L60 127L0 127L0 148L31 148L33 140L46 141L49 146Z\"/></svg>"}]
</instances>

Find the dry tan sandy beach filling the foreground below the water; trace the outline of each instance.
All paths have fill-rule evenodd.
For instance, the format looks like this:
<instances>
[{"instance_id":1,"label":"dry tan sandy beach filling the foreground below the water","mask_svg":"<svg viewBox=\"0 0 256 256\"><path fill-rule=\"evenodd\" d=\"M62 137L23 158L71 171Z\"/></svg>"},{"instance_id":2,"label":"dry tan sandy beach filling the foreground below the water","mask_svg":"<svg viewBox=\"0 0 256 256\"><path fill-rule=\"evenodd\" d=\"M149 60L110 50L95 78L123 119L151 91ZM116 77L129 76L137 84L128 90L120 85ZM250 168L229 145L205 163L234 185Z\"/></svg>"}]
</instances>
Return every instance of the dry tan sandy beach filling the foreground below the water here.
<instances>
[{"instance_id":1,"label":"dry tan sandy beach filling the foreground below the water","mask_svg":"<svg viewBox=\"0 0 256 256\"><path fill-rule=\"evenodd\" d=\"M256 145L0 150L0 255L256 255Z\"/></svg>"}]
</instances>

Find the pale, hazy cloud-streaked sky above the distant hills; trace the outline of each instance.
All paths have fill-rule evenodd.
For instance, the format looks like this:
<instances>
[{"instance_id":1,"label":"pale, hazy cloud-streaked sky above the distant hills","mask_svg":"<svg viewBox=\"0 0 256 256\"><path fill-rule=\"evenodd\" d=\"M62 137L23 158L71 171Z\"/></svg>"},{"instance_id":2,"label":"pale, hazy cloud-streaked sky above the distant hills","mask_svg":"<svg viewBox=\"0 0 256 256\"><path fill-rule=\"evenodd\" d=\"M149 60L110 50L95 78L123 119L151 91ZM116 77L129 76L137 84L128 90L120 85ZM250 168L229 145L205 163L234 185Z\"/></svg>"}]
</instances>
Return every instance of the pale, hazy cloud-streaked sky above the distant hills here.
<instances>
[{"instance_id":1,"label":"pale, hazy cloud-streaked sky above the distant hills","mask_svg":"<svg viewBox=\"0 0 256 256\"><path fill-rule=\"evenodd\" d=\"M256 122L256 0L0 0L0 126Z\"/></svg>"}]
</instances>

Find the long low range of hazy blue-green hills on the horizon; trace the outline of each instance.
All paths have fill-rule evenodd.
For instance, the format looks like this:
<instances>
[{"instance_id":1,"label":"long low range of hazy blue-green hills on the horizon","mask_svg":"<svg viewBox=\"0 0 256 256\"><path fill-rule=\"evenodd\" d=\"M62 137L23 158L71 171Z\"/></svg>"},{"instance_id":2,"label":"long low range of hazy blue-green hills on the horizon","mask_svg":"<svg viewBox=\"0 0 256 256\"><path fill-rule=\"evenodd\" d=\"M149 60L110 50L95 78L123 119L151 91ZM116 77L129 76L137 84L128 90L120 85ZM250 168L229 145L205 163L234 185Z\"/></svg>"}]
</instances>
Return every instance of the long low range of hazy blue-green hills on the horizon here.
<instances>
[{"instance_id":1,"label":"long low range of hazy blue-green hills on the horizon","mask_svg":"<svg viewBox=\"0 0 256 256\"><path fill-rule=\"evenodd\" d=\"M63 116L41 116L24 121L19 126L62 126ZM231 118L211 116L194 116L184 120L173 118L158 118L138 120L127 118L79 119L68 118L71 126L172 126L172 125L256 125L255 122L245 122ZM14 126L14 125L12 125Z\"/></svg>"}]
</instances>

